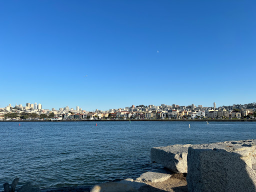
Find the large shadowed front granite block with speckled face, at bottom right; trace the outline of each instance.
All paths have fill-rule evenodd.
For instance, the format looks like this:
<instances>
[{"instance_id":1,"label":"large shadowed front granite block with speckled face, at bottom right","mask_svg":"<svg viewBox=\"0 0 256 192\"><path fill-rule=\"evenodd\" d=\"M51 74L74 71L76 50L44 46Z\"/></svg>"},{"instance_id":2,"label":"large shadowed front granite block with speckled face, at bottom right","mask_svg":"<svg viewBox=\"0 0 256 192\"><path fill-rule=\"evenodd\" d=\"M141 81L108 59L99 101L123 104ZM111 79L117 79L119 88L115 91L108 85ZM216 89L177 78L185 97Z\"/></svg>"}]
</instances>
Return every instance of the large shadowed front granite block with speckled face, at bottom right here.
<instances>
[{"instance_id":1,"label":"large shadowed front granite block with speckled face, at bottom right","mask_svg":"<svg viewBox=\"0 0 256 192\"><path fill-rule=\"evenodd\" d=\"M250 150L236 148L188 148L187 187L189 192L256 191L256 173L251 168Z\"/></svg>"}]
</instances>

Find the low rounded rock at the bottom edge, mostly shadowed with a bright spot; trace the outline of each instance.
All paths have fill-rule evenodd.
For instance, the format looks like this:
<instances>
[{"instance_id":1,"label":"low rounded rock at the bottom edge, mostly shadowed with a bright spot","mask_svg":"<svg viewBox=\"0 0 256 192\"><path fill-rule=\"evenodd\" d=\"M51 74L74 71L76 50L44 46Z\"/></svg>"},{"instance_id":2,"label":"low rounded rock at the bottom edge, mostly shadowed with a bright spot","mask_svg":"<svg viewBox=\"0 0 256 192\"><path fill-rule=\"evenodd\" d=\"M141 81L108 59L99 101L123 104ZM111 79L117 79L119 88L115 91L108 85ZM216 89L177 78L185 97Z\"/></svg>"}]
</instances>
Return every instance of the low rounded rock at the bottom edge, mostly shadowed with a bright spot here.
<instances>
[{"instance_id":1,"label":"low rounded rock at the bottom edge, mostly shadowed with a bright spot","mask_svg":"<svg viewBox=\"0 0 256 192\"><path fill-rule=\"evenodd\" d=\"M137 192L137 189L133 188L129 184L121 182L105 182L94 185L90 192Z\"/></svg>"}]
</instances>

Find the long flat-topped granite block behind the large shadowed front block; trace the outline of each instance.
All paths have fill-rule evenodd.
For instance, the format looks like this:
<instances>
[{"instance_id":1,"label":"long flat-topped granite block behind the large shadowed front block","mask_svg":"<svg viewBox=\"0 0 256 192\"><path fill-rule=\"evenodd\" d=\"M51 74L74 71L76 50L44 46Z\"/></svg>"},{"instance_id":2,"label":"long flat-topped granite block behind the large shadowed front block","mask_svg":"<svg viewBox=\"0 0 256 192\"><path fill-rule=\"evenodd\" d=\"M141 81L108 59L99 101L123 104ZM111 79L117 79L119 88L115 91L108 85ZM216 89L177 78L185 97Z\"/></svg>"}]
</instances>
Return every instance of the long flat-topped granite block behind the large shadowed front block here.
<instances>
[{"instance_id":1,"label":"long flat-topped granite block behind the large shadowed front block","mask_svg":"<svg viewBox=\"0 0 256 192\"><path fill-rule=\"evenodd\" d=\"M256 163L256 140L231 140L224 142L215 142L209 144L175 144L169 146L160 146L151 148L151 161L162 164L173 172L187 172L187 150L188 147L197 149L224 149L227 151L250 150L251 164Z\"/></svg>"}]
</instances>

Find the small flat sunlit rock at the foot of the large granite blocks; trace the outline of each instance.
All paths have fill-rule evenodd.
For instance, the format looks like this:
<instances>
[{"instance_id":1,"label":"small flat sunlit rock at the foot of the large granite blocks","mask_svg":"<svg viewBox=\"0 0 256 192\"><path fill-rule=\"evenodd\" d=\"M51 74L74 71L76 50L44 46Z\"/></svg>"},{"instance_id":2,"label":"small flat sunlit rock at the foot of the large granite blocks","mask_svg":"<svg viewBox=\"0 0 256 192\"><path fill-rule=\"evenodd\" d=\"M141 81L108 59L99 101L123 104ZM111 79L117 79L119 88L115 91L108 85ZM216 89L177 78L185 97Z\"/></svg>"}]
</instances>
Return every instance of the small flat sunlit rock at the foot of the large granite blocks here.
<instances>
[{"instance_id":1,"label":"small flat sunlit rock at the foot of the large granite blocks","mask_svg":"<svg viewBox=\"0 0 256 192\"><path fill-rule=\"evenodd\" d=\"M144 172L140 175L140 177L136 178L135 181L143 182L143 181L151 181L151 182L162 182L168 179L171 174L159 173L159 172Z\"/></svg>"}]
</instances>

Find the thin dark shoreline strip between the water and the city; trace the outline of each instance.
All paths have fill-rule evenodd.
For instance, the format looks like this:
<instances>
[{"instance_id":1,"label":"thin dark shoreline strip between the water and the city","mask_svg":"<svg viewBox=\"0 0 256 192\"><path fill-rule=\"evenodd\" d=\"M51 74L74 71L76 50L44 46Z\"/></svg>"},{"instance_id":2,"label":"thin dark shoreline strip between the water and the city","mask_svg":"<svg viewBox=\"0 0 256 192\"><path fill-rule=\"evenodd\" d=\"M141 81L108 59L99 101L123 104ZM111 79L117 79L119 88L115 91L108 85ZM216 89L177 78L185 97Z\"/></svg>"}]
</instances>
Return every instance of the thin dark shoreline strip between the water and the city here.
<instances>
[{"instance_id":1,"label":"thin dark shoreline strip between the water and the city","mask_svg":"<svg viewBox=\"0 0 256 192\"><path fill-rule=\"evenodd\" d=\"M77 120L0 120L0 122L24 122L24 121L37 121L37 122L65 122L65 121L224 121L224 122L254 122L256 119L93 119L93 120L85 120L85 119L77 119Z\"/></svg>"}]
</instances>

